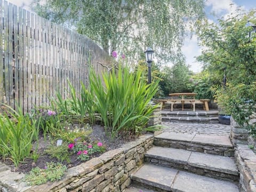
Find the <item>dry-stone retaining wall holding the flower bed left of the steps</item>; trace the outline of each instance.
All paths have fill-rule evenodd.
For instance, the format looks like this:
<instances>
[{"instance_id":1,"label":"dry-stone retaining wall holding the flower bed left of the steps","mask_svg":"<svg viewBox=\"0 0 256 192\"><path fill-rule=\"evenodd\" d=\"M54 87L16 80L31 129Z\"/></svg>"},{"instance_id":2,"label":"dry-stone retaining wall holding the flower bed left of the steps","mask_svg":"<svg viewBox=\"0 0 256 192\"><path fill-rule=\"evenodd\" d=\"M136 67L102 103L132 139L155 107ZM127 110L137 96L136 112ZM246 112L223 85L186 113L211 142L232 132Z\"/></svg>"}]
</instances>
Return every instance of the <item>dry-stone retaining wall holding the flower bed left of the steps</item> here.
<instances>
[{"instance_id":1,"label":"dry-stone retaining wall holding the flower bed left of the steps","mask_svg":"<svg viewBox=\"0 0 256 192\"><path fill-rule=\"evenodd\" d=\"M26 192L123 191L131 183L131 174L143 164L146 151L153 146L153 139L153 134L142 135L122 148L107 151L100 157L69 168L60 181L47 182L40 186L26 186L21 182L23 174L6 170L9 172L0 173L0 191L5 192L7 188L9 191ZM13 175L7 179L7 174Z\"/></svg>"}]
</instances>

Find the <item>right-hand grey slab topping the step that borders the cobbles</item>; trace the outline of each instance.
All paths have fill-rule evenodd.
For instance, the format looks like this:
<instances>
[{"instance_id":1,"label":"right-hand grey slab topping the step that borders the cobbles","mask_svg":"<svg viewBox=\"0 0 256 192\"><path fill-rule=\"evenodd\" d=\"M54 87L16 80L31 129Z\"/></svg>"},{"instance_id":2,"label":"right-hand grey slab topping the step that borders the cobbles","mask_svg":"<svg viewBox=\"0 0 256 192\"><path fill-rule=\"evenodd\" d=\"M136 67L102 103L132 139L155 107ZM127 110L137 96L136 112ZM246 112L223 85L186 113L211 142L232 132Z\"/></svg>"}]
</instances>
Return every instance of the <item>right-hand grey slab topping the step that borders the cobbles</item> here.
<instances>
[{"instance_id":1,"label":"right-hand grey slab topping the step that borders the cobbles","mask_svg":"<svg viewBox=\"0 0 256 192\"><path fill-rule=\"evenodd\" d=\"M199 135L196 134L191 141L202 145L233 147L228 136L225 135Z\"/></svg>"}]
</instances>

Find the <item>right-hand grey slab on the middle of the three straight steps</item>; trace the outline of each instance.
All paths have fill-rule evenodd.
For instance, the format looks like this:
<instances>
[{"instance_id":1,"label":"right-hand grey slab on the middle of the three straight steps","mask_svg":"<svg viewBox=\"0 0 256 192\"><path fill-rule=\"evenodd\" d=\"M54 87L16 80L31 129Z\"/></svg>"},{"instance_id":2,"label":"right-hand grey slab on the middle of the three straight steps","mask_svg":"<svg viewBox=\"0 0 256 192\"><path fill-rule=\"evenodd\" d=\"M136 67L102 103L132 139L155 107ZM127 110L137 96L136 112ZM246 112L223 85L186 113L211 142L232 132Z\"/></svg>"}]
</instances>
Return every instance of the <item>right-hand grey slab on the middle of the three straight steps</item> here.
<instances>
[{"instance_id":1,"label":"right-hand grey slab on the middle of the three straight steps","mask_svg":"<svg viewBox=\"0 0 256 192\"><path fill-rule=\"evenodd\" d=\"M238 175L235 161L229 157L192 152L188 159L188 165Z\"/></svg>"}]
</instances>

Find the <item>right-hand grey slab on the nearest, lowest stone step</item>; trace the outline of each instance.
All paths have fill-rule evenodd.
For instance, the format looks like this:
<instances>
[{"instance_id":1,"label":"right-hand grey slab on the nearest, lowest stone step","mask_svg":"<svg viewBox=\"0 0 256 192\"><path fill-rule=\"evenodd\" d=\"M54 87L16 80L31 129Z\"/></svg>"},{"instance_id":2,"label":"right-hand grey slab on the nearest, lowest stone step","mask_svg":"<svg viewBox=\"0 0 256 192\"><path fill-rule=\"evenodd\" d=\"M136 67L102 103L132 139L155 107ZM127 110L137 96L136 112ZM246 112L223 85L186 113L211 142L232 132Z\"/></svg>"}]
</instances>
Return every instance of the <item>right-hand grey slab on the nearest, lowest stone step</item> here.
<instances>
[{"instance_id":1,"label":"right-hand grey slab on the nearest, lowest stone step","mask_svg":"<svg viewBox=\"0 0 256 192\"><path fill-rule=\"evenodd\" d=\"M239 192L231 182L179 171L172 186L173 192Z\"/></svg>"}]
</instances>

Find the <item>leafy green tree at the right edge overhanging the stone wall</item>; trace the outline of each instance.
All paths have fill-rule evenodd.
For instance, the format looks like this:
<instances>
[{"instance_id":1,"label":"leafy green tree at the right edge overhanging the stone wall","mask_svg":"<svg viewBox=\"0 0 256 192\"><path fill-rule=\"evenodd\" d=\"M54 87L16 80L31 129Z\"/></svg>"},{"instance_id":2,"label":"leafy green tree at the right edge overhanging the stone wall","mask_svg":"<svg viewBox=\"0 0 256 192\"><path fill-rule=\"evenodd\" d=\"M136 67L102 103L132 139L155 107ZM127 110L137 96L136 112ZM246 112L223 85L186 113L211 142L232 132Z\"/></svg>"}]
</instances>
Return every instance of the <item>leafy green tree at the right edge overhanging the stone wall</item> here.
<instances>
[{"instance_id":1,"label":"leafy green tree at the right edge overhanging the stone wall","mask_svg":"<svg viewBox=\"0 0 256 192\"><path fill-rule=\"evenodd\" d=\"M214 87L218 105L254 137L256 124L250 123L250 117L256 113L256 35L252 34L250 39L252 28L245 24L247 20L256 23L255 13L252 10L220 19L218 25L205 21L198 33L201 45L206 47L198 60L219 81L226 74L227 85Z\"/></svg>"}]
</instances>

